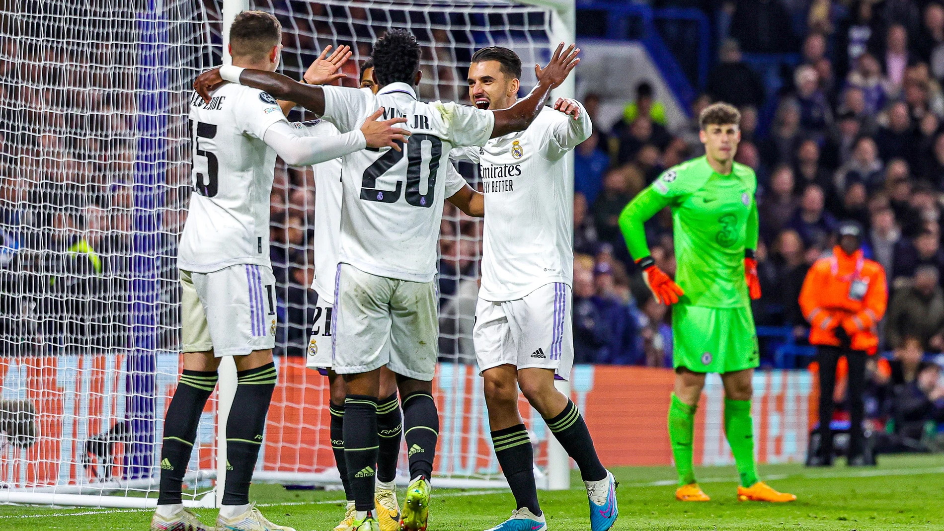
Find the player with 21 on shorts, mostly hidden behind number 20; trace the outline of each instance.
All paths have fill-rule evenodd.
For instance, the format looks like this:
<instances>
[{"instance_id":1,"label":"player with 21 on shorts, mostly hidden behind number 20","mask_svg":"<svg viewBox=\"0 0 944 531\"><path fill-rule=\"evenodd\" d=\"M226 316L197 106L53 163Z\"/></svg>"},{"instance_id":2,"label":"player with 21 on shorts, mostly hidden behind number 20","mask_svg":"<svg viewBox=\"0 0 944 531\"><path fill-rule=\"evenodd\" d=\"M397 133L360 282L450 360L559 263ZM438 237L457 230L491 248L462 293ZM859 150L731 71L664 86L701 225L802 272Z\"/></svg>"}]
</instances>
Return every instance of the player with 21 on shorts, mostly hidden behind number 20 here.
<instances>
[{"instance_id":1,"label":"player with 21 on shorts, mostly hidden behind number 20","mask_svg":"<svg viewBox=\"0 0 944 531\"><path fill-rule=\"evenodd\" d=\"M304 76L305 82L312 85L323 83L330 75L343 64L347 46L341 46L329 58L323 59L330 46L319 60L312 63ZM321 65L325 65L319 68ZM365 61L361 67L361 88L370 89L377 93L379 86L374 83L374 62ZM283 111L288 111L295 105L288 106L279 102ZM340 135L337 127L324 120L295 123L304 133L312 137ZM341 168L342 159L335 158L312 166L314 171L314 238L316 252L314 254L315 278L312 290L316 300L314 308L314 323L312 324L312 339L308 346L306 366L317 369L329 378L330 389L330 437L331 449L337 463L341 481L344 484L347 499L344 520L334 528L334 531L350 531L353 529L356 509L353 494L347 480L347 466L345 462L344 446L344 411L347 387L344 376L332 370L331 361L331 313L334 306L334 276L338 266L338 240L341 237ZM447 166L447 190L459 189L447 197L447 201L462 209L469 216L481 217L484 215L484 197L478 191L464 184L463 177L450 164ZM459 181L456 181L459 179ZM319 341L321 341L319 343ZM389 346L388 346L389 348ZM399 507L396 503L396 461L400 452L402 423L399 402L396 396L396 374L386 366L380 368L380 391L377 406L377 432L379 435L379 449L377 457L377 486L374 498L377 506L377 519L380 531L396 531L399 529Z\"/></svg>"}]
</instances>

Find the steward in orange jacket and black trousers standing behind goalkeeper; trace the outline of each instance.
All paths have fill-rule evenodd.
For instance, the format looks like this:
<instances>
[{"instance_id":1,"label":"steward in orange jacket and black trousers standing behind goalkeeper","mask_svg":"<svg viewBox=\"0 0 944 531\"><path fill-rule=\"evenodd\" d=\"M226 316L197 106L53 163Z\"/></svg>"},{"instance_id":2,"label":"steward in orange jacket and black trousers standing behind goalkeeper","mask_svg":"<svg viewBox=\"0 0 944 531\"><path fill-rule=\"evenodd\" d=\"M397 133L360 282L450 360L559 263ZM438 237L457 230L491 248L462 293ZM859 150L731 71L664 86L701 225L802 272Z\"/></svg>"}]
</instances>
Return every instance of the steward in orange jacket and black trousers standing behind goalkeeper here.
<instances>
[{"instance_id":1,"label":"steward in orange jacket and black trousers standing behind goalkeeper","mask_svg":"<svg viewBox=\"0 0 944 531\"><path fill-rule=\"evenodd\" d=\"M806 466L833 464L833 394L836 366L846 358L849 380L850 429L847 462L872 466L875 455L866 443L863 392L866 358L879 347L878 324L888 304L885 270L862 256L862 225L839 224L839 244L832 257L820 258L810 268L800 290L800 308L810 322L810 342L817 345L819 363L819 426L810 434Z\"/></svg>"}]
</instances>

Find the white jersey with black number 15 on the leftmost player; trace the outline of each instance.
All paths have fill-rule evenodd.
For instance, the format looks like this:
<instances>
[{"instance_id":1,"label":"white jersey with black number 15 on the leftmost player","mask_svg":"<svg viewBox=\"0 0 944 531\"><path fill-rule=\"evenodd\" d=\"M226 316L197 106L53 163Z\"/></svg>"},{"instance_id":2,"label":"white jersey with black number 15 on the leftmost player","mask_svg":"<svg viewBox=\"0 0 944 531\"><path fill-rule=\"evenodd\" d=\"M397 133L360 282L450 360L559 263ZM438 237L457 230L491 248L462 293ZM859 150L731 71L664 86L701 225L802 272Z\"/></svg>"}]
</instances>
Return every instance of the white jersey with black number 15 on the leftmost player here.
<instances>
[{"instance_id":1,"label":"white jersey with black number 15 on the leftmost player","mask_svg":"<svg viewBox=\"0 0 944 531\"><path fill-rule=\"evenodd\" d=\"M210 103L190 101L194 166L177 267L211 273L236 264L271 267L269 195L276 152L262 141L284 121L266 92L227 83Z\"/></svg>"}]
</instances>

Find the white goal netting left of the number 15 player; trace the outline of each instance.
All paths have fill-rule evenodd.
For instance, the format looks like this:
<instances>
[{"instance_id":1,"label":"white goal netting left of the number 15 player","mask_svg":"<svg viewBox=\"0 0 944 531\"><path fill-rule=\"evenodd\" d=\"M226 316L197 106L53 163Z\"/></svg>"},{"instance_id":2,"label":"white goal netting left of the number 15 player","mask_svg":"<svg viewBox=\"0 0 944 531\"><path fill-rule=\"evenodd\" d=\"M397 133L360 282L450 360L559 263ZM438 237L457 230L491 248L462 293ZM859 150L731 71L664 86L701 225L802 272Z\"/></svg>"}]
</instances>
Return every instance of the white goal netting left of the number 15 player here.
<instances>
[{"instance_id":1,"label":"white goal netting left of the number 15 player","mask_svg":"<svg viewBox=\"0 0 944 531\"><path fill-rule=\"evenodd\" d=\"M190 0L4 6L0 483L147 489L177 380L205 15Z\"/></svg>"}]
</instances>

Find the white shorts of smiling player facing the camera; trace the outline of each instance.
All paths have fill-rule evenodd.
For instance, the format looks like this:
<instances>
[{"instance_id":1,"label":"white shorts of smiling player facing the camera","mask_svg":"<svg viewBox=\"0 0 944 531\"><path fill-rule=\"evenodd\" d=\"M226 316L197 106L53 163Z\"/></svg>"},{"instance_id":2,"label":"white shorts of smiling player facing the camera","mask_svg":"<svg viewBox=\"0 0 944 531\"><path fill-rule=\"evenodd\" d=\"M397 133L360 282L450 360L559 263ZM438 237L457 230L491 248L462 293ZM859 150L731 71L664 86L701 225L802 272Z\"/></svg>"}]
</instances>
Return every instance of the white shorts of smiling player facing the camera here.
<instances>
[{"instance_id":1,"label":"white shorts of smiling player facing the camera","mask_svg":"<svg viewBox=\"0 0 944 531\"><path fill-rule=\"evenodd\" d=\"M569 379L574 364L572 299L563 282L545 284L514 301L480 298L472 328L480 373L507 364L552 369Z\"/></svg>"}]
</instances>

